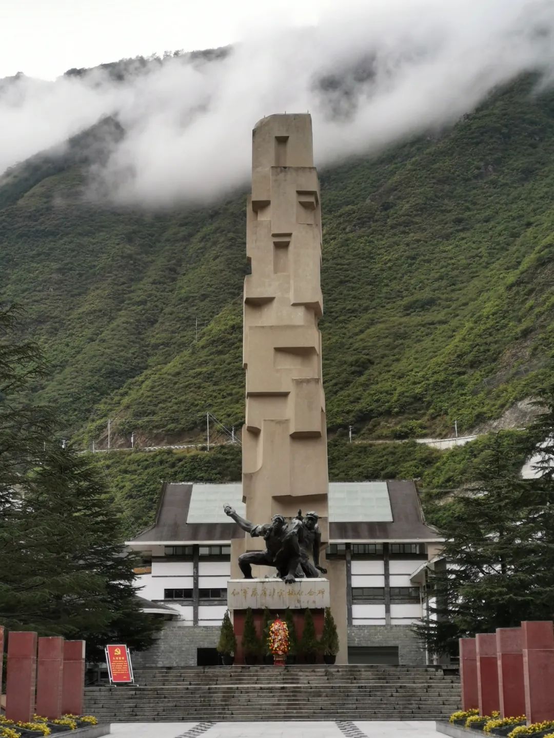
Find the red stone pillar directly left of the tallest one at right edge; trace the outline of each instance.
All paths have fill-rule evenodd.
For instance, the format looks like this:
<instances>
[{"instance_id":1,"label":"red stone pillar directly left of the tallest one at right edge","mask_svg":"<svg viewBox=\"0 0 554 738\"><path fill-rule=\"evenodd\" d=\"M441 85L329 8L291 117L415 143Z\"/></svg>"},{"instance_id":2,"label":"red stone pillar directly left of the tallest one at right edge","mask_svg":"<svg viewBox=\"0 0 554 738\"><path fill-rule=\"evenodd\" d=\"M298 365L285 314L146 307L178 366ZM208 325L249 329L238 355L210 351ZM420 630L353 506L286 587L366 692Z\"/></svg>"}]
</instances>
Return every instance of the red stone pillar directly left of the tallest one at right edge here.
<instances>
[{"instance_id":1,"label":"red stone pillar directly left of the tallest one at right edge","mask_svg":"<svg viewBox=\"0 0 554 738\"><path fill-rule=\"evenodd\" d=\"M496 658L500 716L524 715L525 689L521 628L496 629Z\"/></svg>"}]
</instances>

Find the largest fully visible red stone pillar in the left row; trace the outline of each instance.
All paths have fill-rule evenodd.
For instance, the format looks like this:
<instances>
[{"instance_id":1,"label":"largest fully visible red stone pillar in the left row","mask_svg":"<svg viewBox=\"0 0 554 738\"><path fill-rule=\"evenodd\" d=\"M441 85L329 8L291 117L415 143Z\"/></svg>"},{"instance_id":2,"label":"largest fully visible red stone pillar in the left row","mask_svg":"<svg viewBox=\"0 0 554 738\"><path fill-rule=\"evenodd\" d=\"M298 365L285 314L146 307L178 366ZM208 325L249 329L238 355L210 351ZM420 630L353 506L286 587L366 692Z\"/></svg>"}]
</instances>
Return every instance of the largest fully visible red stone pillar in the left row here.
<instances>
[{"instance_id":1,"label":"largest fully visible red stone pillar in the left row","mask_svg":"<svg viewBox=\"0 0 554 738\"><path fill-rule=\"evenodd\" d=\"M29 723L35 708L37 634L11 631L7 639L6 717Z\"/></svg>"}]
</instances>

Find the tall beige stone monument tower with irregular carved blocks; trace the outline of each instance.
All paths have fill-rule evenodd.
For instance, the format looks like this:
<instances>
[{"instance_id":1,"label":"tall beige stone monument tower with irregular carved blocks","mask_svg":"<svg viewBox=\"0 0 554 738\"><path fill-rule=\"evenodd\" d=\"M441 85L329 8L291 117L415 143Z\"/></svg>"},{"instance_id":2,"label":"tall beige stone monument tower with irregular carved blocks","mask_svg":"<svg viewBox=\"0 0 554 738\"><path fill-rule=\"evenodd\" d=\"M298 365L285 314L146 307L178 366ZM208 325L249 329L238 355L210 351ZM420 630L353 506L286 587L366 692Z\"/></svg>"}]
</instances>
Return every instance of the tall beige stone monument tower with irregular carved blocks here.
<instances>
[{"instance_id":1,"label":"tall beige stone monument tower with irregular carved blocks","mask_svg":"<svg viewBox=\"0 0 554 738\"><path fill-rule=\"evenodd\" d=\"M271 115L252 134L244 282L246 517L328 517L322 385L321 208L311 116ZM326 530L327 526L322 526Z\"/></svg>"}]
</instances>

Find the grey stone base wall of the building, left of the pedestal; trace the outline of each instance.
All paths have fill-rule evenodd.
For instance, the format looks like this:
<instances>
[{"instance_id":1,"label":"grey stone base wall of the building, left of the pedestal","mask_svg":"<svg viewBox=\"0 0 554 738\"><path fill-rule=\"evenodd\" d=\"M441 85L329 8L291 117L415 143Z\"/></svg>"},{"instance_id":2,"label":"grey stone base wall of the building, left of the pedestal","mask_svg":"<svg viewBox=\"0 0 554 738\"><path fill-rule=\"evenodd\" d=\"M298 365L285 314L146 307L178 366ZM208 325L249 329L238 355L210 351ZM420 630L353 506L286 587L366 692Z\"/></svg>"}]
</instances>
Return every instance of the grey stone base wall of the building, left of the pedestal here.
<instances>
[{"instance_id":1,"label":"grey stone base wall of the building, left of the pedestal","mask_svg":"<svg viewBox=\"0 0 554 738\"><path fill-rule=\"evenodd\" d=\"M167 625L150 649L133 652L133 666L196 666L196 649L215 648L219 630L219 626L213 625Z\"/></svg>"}]
</instances>

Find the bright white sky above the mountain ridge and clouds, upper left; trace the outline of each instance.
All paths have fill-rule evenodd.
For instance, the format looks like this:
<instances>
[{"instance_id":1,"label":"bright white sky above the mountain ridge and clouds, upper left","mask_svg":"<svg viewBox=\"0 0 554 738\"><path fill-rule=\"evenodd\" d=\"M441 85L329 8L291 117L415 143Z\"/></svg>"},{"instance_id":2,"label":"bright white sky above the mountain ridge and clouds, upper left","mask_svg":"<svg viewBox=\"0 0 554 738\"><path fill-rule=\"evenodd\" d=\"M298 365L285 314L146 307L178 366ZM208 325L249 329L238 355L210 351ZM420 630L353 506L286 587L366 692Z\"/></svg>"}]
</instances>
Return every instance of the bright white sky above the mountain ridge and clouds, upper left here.
<instances>
[{"instance_id":1,"label":"bright white sky above the mountain ridge and clouds, upper left","mask_svg":"<svg viewBox=\"0 0 554 738\"><path fill-rule=\"evenodd\" d=\"M257 28L316 24L341 6L342 0L0 0L0 77L55 79L72 67L225 46Z\"/></svg>"}]
</instances>

